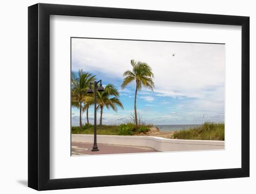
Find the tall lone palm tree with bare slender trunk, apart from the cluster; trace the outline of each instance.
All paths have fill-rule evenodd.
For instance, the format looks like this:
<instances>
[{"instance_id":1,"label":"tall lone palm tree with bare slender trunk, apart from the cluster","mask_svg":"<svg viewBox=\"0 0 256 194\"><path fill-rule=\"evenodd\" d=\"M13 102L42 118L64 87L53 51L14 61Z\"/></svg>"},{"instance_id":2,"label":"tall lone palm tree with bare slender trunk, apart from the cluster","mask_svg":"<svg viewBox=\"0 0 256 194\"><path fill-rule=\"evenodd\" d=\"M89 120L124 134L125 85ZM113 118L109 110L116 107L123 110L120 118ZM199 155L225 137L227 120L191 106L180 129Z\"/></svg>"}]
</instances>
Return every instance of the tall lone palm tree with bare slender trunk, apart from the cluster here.
<instances>
[{"instance_id":1,"label":"tall lone palm tree with bare slender trunk, apart from the cluster","mask_svg":"<svg viewBox=\"0 0 256 194\"><path fill-rule=\"evenodd\" d=\"M131 60L131 65L133 69L127 70L123 73L124 79L121 85L121 88L125 88L129 83L135 81L136 89L135 89L135 100L134 100L134 113L135 113L135 125L138 127L138 118L137 118L137 110L136 110L136 99L137 92L140 91L142 87L147 87L151 91L153 91L155 84L153 82L154 74L152 73L151 67L147 63L143 63L141 61L136 62L135 60Z\"/></svg>"}]
</instances>

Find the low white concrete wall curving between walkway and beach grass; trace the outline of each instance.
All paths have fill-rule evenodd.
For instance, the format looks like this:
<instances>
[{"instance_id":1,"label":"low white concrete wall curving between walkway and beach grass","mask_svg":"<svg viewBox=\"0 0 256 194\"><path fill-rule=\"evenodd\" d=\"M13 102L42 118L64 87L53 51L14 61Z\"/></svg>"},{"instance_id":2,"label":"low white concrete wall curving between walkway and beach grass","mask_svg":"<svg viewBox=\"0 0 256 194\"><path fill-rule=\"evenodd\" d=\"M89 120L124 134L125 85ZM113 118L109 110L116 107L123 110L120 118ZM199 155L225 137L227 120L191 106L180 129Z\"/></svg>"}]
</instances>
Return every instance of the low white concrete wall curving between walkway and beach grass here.
<instances>
[{"instance_id":1,"label":"low white concrete wall curving between walkway and beach grass","mask_svg":"<svg viewBox=\"0 0 256 194\"><path fill-rule=\"evenodd\" d=\"M72 141L93 143L94 135L72 134ZM97 135L97 143L152 147L158 151L224 149L224 141L174 140L151 136Z\"/></svg>"}]
</instances>

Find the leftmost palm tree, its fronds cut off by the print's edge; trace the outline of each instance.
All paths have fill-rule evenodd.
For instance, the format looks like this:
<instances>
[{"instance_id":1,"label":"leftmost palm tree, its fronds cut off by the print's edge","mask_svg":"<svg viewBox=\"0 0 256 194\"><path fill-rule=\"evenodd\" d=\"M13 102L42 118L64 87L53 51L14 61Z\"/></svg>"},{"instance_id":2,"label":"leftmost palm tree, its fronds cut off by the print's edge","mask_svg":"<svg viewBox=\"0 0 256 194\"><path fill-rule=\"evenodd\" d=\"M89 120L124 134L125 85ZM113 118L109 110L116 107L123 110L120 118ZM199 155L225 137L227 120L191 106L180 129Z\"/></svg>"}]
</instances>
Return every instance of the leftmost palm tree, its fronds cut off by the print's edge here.
<instances>
[{"instance_id":1,"label":"leftmost palm tree, its fronds cut off by the print's edge","mask_svg":"<svg viewBox=\"0 0 256 194\"><path fill-rule=\"evenodd\" d=\"M80 109L79 126L82 128L82 104L90 86L90 82L95 80L95 75L83 72L79 69L78 76L71 74L71 105Z\"/></svg>"}]
</instances>

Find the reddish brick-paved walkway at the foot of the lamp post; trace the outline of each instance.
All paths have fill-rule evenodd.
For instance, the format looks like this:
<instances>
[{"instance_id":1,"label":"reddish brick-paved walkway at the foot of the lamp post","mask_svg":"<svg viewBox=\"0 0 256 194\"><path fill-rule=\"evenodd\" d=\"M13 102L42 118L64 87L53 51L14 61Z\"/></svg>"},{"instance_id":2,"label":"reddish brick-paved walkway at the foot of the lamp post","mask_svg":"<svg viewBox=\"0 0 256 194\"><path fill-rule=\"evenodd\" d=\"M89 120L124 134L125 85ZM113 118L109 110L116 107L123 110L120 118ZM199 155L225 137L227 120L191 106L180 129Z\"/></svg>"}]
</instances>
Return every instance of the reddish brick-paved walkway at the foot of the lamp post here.
<instances>
[{"instance_id":1,"label":"reddish brick-paved walkway at the foot of the lamp post","mask_svg":"<svg viewBox=\"0 0 256 194\"><path fill-rule=\"evenodd\" d=\"M98 143L99 151L92 152L93 143L82 143L72 141L72 155L94 155L94 154L127 154L158 152L150 147L119 146Z\"/></svg>"}]
</instances>

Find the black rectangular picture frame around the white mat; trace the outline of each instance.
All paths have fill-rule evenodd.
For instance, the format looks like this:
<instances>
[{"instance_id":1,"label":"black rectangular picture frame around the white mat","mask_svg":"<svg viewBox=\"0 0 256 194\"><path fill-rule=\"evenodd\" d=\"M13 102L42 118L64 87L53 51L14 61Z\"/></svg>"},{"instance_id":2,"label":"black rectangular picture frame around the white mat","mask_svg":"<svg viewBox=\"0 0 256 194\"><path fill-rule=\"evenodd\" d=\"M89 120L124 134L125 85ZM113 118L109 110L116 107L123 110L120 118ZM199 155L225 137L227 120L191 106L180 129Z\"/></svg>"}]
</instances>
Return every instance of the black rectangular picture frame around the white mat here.
<instances>
[{"instance_id":1,"label":"black rectangular picture frame around the white mat","mask_svg":"<svg viewBox=\"0 0 256 194\"><path fill-rule=\"evenodd\" d=\"M152 174L50 179L50 15L242 26L242 167ZM102 187L249 176L249 17L201 13L36 4L28 7L28 187Z\"/></svg>"}]
</instances>

